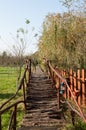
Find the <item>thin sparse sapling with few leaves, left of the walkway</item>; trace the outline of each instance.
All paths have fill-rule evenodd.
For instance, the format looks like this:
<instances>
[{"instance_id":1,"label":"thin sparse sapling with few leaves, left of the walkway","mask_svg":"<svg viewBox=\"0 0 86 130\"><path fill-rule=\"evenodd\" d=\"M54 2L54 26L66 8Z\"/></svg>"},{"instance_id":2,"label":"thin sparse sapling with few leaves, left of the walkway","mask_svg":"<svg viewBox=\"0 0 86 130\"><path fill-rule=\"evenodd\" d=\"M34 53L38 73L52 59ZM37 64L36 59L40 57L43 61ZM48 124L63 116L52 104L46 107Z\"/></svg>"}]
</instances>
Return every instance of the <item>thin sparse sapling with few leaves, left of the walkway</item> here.
<instances>
[{"instance_id":1,"label":"thin sparse sapling with few leaves, left of the walkway","mask_svg":"<svg viewBox=\"0 0 86 130\"><path fill-rule=\"evenodd\" d=\"M28 25L29 23L30 21L26 19L25 24ZM28 34L27 28L26 29L19 28L17 30L16 38L13 38L15 41L15 44L13 45L12 52L17 58L18 80L20 79L20 76L21 76L21 69L22 69L23 61L24 61L23 57L24 57L25 50L28 45L27 34Z\"/></svg>"}]
</instances>

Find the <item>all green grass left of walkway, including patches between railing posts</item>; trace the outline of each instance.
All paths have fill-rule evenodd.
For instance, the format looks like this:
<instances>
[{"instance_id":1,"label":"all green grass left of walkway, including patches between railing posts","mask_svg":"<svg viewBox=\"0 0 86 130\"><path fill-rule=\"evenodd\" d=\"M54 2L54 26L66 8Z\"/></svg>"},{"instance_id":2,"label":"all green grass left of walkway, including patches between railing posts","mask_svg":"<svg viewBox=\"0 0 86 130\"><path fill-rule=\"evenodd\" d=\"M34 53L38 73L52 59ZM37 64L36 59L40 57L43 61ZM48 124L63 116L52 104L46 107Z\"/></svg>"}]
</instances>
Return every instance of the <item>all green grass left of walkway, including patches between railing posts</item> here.
<instances>
[{"instance_id":1,"label":"all green grass left of walkway, including patches between railing posts","mask_svg":"<svg viewBox=\"0 0 86 130\"><path fill-rule=\"evenodd\" d=\"M17 75L17 69L15 67L0 67L0 106L15 94L17 89ZM17 98L19 98L21 95L22 91L20 91ZM17 98L15 98L15 100L12 100L11 103L15 102ZM22 109L23 106L20 105L17 112L18 126L23 116L21 112ZM10 115L11 110L2 115L2 130L7 129Z\"/></svg>"}]
</instances>

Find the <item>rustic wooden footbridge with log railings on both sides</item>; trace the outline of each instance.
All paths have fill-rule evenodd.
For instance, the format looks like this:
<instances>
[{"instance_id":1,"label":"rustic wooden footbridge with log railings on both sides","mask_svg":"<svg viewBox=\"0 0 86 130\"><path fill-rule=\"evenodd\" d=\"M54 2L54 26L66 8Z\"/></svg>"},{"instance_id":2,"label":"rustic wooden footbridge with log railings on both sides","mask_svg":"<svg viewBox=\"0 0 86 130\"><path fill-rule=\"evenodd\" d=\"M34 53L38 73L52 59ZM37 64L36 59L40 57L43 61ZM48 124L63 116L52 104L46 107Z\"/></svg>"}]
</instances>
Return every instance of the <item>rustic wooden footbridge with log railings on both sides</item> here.
<instances>
[{"instance_id":1,"label":"rustic wooden footbridge with log railings on both sides","mask_svg":"<svg viewBox=\"0 0 86 130\"><path fill-rule=\"evenodd\" d=\"M67 81L68 79L62 77L62 74L64 76L65 72L60 73L58 69L52 67L50 62L45 62L48 68L47 74L42 72L39 67L32 73L31 60L27 63L15 95L0 107L0 130L3 130L2 115L12 108L13 111L8 123L8 130L62 130L66 123L64 118L65 104L70 108L73 125L75 123L75 113L86 122L85 113L80 107L80 100L82 100L81 103L83 105L86 102L85 90L82 88L84 96L81 94L81 99L78 96L76 97L75 94L78 95L79 91L75 91L74 88L72 89L71 75L69 82ZM69 83L71 84L69 85ZM82 85L85 87L85 80L82 82ZM18 100L4 108L17 96L20 89L23 90L23 100ZM72 106L71 102L74 106ZM22 119L21 127L17 128L17 108L20 103L23 103L25 106L25 115Z\"/></svg>"}]
</instances>

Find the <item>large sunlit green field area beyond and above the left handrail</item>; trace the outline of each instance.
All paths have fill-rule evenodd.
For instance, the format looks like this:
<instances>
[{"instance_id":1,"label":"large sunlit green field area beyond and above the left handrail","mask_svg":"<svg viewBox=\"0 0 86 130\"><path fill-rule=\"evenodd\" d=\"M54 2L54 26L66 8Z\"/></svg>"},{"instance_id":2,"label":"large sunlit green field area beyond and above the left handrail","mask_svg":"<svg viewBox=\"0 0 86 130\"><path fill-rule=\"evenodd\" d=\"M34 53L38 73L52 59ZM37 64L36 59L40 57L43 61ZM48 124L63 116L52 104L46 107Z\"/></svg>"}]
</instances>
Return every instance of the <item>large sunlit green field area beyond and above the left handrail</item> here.
<instances>
[{"instance_id":1,"label":"large sunlit green field area beyond and above the left handrail","mask_svg":"<svg viewBox=\"0 0 86 130\"><path fill-rule=\"evenodd\" d=\"M11 73L7 73L9 72ZM14 68L0 67L0 105L16 91L17 75Z\"/></svg>"}]
</instances>

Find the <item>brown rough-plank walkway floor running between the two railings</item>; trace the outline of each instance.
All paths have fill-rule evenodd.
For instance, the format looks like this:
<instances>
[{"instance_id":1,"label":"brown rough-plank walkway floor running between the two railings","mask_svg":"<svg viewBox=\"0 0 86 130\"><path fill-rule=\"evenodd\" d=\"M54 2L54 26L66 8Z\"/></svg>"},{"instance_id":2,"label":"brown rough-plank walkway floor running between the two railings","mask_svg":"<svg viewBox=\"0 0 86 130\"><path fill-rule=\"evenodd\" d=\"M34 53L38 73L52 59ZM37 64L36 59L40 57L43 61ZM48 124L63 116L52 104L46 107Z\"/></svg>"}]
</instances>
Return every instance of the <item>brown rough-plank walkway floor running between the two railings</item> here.
<instances>
[{"instance_id":1,"label":"brown rough-plank walkway floor running between the two railings","mask_svg":"<svg viewBox=\"0 0 86 130\"><path fill-rule=\"evenodd\" d=\"M62 113L57 111L57 93L51 80L39 69L32 74L27 89L27 112L18 130L62 130Z\"/></svg>"}]
</instances>

